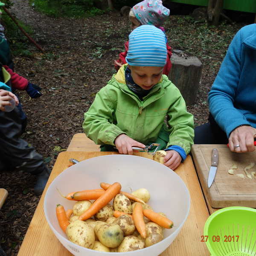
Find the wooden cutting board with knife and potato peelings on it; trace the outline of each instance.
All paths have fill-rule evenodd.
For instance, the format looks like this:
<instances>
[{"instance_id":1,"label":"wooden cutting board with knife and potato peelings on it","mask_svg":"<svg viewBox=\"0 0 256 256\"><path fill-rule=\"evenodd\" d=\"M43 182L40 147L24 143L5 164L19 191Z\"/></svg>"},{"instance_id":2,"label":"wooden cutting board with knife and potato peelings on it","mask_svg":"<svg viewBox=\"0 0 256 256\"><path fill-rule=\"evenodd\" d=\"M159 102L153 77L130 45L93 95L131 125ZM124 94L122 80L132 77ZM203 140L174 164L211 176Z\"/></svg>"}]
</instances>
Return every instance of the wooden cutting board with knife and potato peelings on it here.
<instances>
[{"instance_id":1,"label":"wooden cutting board with knife and potato peelings on it","mask_svg":"<svg viewBox=\"0 0 256 256\"><path fill-rule=\"evenodd\" d=\"M218 169L212 186L208 188L208 175L212 160L212 148L218 149ZM198 177L213 208L229 206L244 206L256 208L256 176L252 179L246 177L244 168L250 163L256 164L256 151L248 153L234 153L226 145L193 145L192 156ZM233 164L238 169L234 175L228 173ZM256 165L248 170L256 172ZM243 174L244 179L236 174Z\"/></svg>"}]
</instances>

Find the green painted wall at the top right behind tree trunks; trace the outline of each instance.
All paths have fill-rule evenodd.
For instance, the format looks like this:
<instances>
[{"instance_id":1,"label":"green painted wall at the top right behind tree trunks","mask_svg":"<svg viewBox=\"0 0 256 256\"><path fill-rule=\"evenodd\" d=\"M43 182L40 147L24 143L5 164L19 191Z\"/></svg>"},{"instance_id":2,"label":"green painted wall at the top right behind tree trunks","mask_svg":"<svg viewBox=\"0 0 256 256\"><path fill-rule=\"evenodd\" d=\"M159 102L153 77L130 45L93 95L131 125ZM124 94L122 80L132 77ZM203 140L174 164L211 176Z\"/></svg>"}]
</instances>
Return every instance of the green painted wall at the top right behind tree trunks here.
<instances>
[{"instance_id":1,"label":"green painted wall at the top right behind tree trunks","mask_svg":"<svg viewBox=\"0 0 256 256\"><path fill-rule=\"evenodd\" d=\"M208 6L208 0L169 0L169 2ZM256 0L224 0L223 9L256 13Z\"/></svg>"}]
</instances>

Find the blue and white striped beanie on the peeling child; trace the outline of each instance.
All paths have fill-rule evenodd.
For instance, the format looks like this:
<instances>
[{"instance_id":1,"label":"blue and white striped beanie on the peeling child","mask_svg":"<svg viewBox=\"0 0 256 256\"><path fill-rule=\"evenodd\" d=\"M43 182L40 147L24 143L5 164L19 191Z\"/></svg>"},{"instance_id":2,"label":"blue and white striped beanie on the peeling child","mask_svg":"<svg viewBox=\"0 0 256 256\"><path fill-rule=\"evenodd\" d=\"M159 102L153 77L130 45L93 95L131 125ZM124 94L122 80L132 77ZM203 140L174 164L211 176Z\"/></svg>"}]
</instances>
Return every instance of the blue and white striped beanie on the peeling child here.
<instances>
[{"instance_id":1,"label":"blue and white striped beanie on the peeling child","mask_svg":"<svg viewBox=\"0 0 256 256\"><path fill-rule=\"evenodd\" d=\"M129 35L126 62L131 66L163 67L166 64L166 36L152 25L141 25Z\"/></svg>"}]
</instances>

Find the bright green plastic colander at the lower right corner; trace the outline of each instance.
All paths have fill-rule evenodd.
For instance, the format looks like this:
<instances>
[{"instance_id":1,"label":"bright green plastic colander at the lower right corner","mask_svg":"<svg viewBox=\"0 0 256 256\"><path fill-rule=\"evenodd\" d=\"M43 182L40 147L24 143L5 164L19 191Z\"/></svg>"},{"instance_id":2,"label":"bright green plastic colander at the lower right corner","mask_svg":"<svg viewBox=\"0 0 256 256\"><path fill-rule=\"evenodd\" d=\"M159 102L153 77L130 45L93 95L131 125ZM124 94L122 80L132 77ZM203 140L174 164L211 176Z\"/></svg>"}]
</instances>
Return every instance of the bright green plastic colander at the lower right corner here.
<instances>
[{"instance_id":1,"label":"bright green plastic colander at the lower right corner","mask_svg":"<svg viewBox=\"0 0 256 256\"><path fill-rule=\"evenodd\" d=\"M209 216L204 241L212 256L256 256L256 209L226 207Z\"/></svg>"}]
</instances>

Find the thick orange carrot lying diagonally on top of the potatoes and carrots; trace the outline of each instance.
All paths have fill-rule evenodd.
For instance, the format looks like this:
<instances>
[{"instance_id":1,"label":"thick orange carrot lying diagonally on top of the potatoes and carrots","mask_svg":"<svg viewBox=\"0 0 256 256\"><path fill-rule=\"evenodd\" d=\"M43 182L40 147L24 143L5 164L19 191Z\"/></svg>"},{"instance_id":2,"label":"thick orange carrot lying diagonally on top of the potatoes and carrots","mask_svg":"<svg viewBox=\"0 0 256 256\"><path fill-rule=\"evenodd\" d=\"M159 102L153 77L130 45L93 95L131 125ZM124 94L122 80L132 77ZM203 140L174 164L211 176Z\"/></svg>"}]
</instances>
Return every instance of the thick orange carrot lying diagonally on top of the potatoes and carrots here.
<instances>
[{"instance_id":1,"label":"thick orange carrot lying diagonally on top of the potatoes and carrots","mask_svg":"<svg viewBox=\"0 0 256 256\"><path fill-rule=\"evenodd\" d=\"M119 194L120 190L120 183L113 183L98 199L93 202L89 209L79 216L79 220L85 221L92 217L96 212L99 212L102 207L107 205L117 194Z\"/></svg>"}]
</instances>

